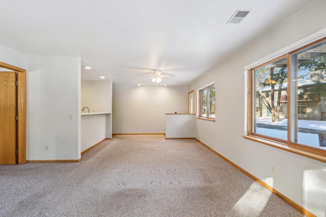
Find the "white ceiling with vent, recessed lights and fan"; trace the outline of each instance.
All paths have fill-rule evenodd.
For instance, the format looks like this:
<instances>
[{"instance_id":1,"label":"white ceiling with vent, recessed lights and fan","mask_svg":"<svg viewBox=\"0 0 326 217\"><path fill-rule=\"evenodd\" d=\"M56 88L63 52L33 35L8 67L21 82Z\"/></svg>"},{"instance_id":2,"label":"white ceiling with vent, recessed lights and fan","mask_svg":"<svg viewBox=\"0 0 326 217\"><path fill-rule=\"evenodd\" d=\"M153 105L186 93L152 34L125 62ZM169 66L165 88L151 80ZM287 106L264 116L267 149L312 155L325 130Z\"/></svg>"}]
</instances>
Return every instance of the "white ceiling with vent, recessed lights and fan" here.
<instances>
[{"instance_id":1,"label":"white ceiling with vent, recessed lights and fan","mask_svg":"<svg viewBox=\"0 0 326 217\"><path fill-rule=\"evenodd\" d=\"M78 56L83 80L189 85L314 0L0 0L0 44L26 55ZM237 9L252 10L239 24ZM180 81L180 83L176 83Z\"/></svg>"}]
</instances>

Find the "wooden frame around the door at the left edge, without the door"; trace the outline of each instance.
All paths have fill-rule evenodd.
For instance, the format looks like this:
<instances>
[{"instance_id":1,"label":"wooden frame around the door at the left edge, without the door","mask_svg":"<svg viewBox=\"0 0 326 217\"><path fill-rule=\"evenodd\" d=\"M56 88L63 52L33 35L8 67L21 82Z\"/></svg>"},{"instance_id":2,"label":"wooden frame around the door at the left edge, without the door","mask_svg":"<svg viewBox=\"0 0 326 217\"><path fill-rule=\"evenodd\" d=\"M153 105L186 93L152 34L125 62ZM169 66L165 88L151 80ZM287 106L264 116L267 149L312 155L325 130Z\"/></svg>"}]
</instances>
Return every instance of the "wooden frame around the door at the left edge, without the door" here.
<instances>
[{"instance_id":1,"label":"wooden frame around the door at the left edge, without the door","mask_svg":"<svg viewBox=\"0 0 326 217\"><path fill-rule=\"evenodd\" d=\"M0 62L0 67L17 72L17 163L26 163L26 70Z\"/></svg>"}]
</instances>

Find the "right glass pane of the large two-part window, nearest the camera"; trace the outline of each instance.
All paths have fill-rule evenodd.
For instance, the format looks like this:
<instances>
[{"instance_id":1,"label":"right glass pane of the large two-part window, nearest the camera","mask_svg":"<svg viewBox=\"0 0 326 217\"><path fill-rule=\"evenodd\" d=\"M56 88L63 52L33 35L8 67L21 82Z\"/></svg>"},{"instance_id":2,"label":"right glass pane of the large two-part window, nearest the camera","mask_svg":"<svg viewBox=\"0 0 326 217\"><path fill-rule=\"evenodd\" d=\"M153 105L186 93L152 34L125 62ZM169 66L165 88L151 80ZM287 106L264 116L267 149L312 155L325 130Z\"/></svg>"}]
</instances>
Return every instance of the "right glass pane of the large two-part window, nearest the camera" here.
<instances>
[{"instance_id":1,"label":"right glass pane of the large two-part window, nearest the camera","mask_svg":"<svg viewBox=\"0 0 326 217\"><path fill-rule=\"evenodd\" d=\"M326 133L326 42L291 55L291 141L316 148L318 133ZM296 109L296 110L295 110Z\"/></svg>"}]
</instances>

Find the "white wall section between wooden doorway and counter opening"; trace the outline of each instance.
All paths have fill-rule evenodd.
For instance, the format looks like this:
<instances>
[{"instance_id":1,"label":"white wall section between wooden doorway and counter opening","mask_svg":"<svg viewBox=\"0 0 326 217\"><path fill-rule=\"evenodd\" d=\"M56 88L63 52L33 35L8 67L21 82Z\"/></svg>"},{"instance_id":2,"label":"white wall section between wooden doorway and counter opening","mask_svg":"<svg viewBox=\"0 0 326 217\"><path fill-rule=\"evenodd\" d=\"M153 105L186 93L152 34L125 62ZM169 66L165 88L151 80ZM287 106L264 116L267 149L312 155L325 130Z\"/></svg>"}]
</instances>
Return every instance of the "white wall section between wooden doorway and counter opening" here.
<instances>
[{"instance_id":1,"label":"white wall section between wooden doorway and counter opening","mask_svg":"<svg viewBox=\"0 0 326 217\"><path fill-rule=\"evenodd\" d=\"M80 58L28 57L27 80L27 159L79 159Z\"/></svg>"}]
</instances>

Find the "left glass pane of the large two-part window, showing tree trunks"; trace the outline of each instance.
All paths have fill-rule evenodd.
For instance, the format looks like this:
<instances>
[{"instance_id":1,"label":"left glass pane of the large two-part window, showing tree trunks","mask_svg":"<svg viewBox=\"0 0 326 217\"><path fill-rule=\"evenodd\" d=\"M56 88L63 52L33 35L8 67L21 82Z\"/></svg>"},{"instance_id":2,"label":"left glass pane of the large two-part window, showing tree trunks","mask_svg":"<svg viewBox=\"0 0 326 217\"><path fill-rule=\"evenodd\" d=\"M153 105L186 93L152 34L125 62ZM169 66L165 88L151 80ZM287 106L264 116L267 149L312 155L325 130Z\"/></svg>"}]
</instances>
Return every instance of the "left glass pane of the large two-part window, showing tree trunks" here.
<instances>
[{"instance_id":1,"label":"left glass pane of the large two-part window, showing tree trunks","mask_svg":"<svg viewBox=\"0 0 326 217\"><path fill-rule=\"evenodd\" d=\"M287 140L287 60L254 71L254 133Z\"/></svg>"}]
</instances>

